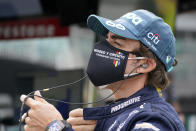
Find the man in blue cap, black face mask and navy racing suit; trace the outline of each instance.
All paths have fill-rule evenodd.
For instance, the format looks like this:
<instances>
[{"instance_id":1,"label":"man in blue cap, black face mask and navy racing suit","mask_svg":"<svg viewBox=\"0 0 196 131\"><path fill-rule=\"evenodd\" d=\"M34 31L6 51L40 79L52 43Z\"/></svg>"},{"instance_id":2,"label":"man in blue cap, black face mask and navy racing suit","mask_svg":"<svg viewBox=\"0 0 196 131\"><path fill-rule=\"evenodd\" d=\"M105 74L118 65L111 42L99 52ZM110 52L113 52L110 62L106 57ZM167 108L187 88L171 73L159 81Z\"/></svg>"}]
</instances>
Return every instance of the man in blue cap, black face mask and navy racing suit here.
<instances>
[{"instance_id":1,"label":"man in blue cap, black face mask and navy racing suit","mask_svg":"<svg viewBox=\"0 0 196 131\"><path fill-rule=\"evenodd\" d=\"M177 113L161 98L161 90L169 83L166 72L176 64L170 27L146 10L127 13L117 20L91 15L87 24L107 37L95 45L87 74L94 85L111 89L115 102L73 110L62 122L60 113L44 99L28 98L28 117L23 115L25 130L184 131ZM22 95L21 101L25 97Z\"/></svg>"}]
</instances>

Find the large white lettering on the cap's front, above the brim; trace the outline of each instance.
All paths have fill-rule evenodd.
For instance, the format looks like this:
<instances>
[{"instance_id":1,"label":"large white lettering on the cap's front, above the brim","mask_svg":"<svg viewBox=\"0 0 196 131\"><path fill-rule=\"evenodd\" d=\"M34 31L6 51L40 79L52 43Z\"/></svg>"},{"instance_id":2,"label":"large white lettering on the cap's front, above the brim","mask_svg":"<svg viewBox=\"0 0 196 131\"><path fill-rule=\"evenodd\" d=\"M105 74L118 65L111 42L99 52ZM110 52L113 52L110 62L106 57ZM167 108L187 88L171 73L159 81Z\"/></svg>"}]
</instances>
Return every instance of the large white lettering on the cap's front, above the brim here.
<instances>
[{"instance_id":1,"label":"large white lettering on the cap's front, above the brim","mask_svg":"<svg viewBox=\"0 0 196 131\"><path fill-rule=\"evenodd\" d=\"M134 25L138 25L139 23L141 23L143 21L143 19L141 17L139 17L138 15L136 15L134 13L127 13L127 14L123 15L122 17L125 17L127 19L132 20L132 23Z\"/></svg>"}]
</instances>

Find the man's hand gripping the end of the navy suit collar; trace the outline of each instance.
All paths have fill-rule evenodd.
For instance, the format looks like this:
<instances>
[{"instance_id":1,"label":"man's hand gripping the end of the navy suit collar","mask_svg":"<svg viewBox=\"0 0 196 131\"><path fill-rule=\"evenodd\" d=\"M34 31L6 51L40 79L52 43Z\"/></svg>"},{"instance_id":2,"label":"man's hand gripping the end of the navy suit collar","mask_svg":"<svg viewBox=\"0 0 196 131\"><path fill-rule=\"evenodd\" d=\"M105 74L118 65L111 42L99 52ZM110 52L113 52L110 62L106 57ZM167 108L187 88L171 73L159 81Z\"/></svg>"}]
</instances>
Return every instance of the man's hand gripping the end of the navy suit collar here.
<instances>
[{"instance_id":1,"label":"man's hand gripping the end of the navy suit collar","mask_svg":"<svg viewBox=\"0 0 196 131\"><path fill-rule=\"evenodd\" d=\"M74 131L94 131L97 123L96 120L84 120L83 109L72 110L67 122L72 125Z\"/></svg>"}]
</instances>

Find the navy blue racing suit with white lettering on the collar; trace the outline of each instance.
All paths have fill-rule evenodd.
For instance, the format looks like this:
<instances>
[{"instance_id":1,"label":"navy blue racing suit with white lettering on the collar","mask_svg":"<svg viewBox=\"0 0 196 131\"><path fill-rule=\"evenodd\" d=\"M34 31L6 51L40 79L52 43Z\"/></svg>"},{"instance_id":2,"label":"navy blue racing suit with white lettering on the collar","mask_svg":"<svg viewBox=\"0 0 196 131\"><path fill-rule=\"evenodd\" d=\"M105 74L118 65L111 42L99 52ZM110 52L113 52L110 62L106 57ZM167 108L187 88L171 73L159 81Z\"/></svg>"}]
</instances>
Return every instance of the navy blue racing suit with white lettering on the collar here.
<instances>
[{"instance_id":1,"label":"navy blue racing suit with white lettering on the collar","mask_svg":"<svg viewBox=\"0 0 196 131\"><path fill-rule=\"evenodd\" d=\"M146 86L105 107L84 108L85 120L98 120L95 131L185 131L176 111Z\"/></svg>"}]
</instances>

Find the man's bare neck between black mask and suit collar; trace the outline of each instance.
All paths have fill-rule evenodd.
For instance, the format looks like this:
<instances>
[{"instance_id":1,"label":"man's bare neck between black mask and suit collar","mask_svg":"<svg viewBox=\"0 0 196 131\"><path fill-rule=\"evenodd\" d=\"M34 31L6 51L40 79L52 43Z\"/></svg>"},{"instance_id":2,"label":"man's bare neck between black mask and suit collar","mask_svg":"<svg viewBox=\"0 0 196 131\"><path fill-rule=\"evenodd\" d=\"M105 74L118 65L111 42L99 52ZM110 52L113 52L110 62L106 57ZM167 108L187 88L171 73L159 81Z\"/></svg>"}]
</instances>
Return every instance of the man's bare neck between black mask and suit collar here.
<instances>
[{"instance_id":1,"label":"man's bare neck between black mask and suit collar","mask_svg":"<svg viewBox=\"0 0 196 131\"><path fill-rule=\"evenodd\" d=\"M108 88L112 91L115 91L116 88L118 88L118 86L121 84L121 82L124 82L121 85L120 89L114 94L114 99L118 100L120 98L127 98L144 88L146 79L147 75L143 74L123 81L115 82L108 86Z\"/></svg>"}]
</instances>

